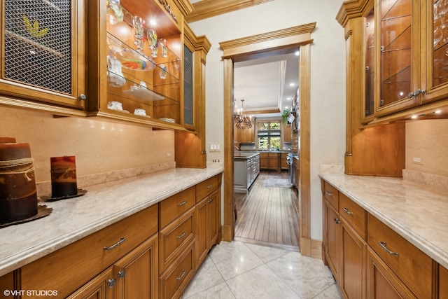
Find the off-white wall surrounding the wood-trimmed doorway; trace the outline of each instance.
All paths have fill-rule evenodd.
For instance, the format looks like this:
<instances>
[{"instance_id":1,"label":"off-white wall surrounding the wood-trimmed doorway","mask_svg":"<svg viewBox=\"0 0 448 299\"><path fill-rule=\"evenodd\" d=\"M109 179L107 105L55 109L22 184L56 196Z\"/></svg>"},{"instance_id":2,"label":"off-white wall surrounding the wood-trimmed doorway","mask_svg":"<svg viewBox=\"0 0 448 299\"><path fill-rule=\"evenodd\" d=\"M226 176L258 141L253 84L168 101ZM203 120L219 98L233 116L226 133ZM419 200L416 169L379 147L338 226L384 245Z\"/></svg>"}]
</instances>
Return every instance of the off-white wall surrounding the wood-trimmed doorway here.
<instances>
[{"instance_id":1,"label":"off-white wall surrounding the wood-trimmed doorway","mask_svg":"<svg viewBox=\"0 0 448 299\"><path fill-rule=\"evenodd\" d=\"M219 43L317 22L311 33L311 238L322 239L319 166L344 165L345 43L335 20L342 0L274 0L190 24L211 41L207 55L207 144L224 144L223 54ZM208 160L223 161L223 152Z\"/></svg>"}]
</instances>

